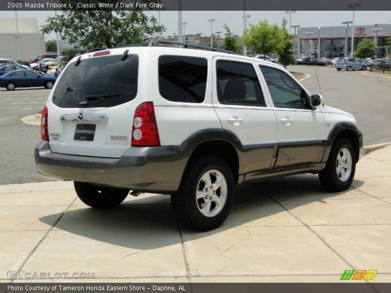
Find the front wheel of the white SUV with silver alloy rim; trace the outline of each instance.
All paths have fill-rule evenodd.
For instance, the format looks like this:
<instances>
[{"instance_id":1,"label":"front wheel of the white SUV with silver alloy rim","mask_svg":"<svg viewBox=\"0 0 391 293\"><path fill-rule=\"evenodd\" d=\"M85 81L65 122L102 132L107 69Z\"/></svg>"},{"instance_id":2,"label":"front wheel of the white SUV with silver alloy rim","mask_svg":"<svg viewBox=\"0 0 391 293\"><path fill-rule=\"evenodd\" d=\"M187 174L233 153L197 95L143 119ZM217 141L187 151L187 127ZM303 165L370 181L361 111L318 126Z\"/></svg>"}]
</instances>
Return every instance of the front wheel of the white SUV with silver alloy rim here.
<instances>
[{"instance_id":1,"label":"front wheel of the white SUV with silver alloy rim","mask_svg":"<svg viewBox=\"0 0 391 293\"><path fill-rule=\"evenodd\" d=\"M332 146L326 168L319 173L319 179L327 190L343 191L353 182L355 171L355 152L351 143L344 138Z\"/></svg>"}]
</instances>

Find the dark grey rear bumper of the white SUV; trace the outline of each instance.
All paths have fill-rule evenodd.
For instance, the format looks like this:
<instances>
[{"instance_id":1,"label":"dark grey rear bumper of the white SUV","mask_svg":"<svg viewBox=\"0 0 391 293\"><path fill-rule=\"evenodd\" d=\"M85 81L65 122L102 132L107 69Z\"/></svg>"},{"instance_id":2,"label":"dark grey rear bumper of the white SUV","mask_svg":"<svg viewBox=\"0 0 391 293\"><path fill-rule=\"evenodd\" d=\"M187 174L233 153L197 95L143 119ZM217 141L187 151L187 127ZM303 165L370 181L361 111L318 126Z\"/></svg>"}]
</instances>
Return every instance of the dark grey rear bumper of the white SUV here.
<instances>
[{"instance_id":1,"label":"dark grey rear bumper of the white SUV","mask_svg":"<svg viewBox=\"0 0 391 293\"><path fill-rule=\"evenodd\" d=\"M130 147L119 159L54 153L49 142L35 147L38 172L47 178L137 191L172 193L194 146Z\"/></svg>"}]
</instances>

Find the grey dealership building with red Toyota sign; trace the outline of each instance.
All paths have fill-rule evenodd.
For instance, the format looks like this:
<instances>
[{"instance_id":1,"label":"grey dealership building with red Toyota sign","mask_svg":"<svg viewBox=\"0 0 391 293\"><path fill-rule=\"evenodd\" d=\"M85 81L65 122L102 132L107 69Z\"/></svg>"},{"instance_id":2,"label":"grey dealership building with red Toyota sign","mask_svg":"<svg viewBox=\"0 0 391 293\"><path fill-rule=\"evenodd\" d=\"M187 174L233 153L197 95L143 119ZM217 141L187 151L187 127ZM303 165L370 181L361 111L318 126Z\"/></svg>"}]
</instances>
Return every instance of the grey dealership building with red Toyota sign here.
<instances>
[{"instance_id":1,"label":"grey dealership building with red Toyota sign","mask_svg":"<svg viewBox=\"0 0 391 293\"><path fill-rule=\"evenodd\" d=\"M386 39L391 38L391 24L355 24L353 33L353 52L359 42L372 39L378 46L377 56L388 55ZM294 36L295 49L298 56L315 54L326 58L343 57L351 53L351 35L351 23L341 26L301 27Z\"/></svg>"}]
</instances>

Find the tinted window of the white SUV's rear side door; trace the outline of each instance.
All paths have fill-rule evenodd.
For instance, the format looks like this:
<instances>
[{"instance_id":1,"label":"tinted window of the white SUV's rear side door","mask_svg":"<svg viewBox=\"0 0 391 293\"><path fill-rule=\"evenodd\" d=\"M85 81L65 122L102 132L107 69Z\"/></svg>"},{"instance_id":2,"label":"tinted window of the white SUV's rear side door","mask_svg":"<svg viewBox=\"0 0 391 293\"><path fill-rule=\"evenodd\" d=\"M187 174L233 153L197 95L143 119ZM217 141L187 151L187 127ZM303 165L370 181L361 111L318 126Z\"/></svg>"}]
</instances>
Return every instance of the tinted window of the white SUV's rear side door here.
<instances>
[{"instance_id":1,"label":"tinted window of the white SUV's rear side door","mask_svg":"<svg viewBox=\"0 0 391 293\"><path fill-rule=\"evenodd\" d=\"M216 71L217 98L221 104L265 105L252 64L219 60Z\"/></svg>"}]
</instances>

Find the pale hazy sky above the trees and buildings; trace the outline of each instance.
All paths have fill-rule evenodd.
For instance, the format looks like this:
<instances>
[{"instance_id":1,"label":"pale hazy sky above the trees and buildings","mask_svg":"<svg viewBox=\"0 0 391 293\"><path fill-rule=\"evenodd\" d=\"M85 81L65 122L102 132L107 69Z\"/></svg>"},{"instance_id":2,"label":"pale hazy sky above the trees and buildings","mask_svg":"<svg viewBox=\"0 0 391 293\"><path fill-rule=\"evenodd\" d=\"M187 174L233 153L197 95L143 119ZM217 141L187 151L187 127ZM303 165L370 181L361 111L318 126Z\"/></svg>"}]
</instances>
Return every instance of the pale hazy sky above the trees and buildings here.
<instances>
[{"instance_id":1,"label":"pale hazy sky above the trees and buildings","mask_svg":"<svg viewBox=\"0 0 391 293\"><path fill-rule=\"evenodd\" d=\"M146 12L147 15L154 15L158 18L158 12ZM247 11L246 15L250 15L248 24L256 24L262 20L268 20L269 23L281 24L282 18L286 17L289 21L289 15L284 11ZM54 16L54 11L19 11L18 18L37 18L38 25L41 26L49 16ZM241 35L243 32L243 11L183 11L182 22L187 22L186 34L202 33L205 36L210 36L211 26L208 19L215 19L212 23L212 31L223 31L223 25L227 24L231 31L236 35ZM0 11L0 18L15 18L13 11ZM299 24L301 27L311 26L340 26L341 21L352 20L352 11L297 11L292 14L292 25ZM160 22L167 30L163 36L172 36L173 33L178 33L178 12L177 11L161 11ZM355 25L370 25L375 23L391 23L391 11L356 11ZM288 25L290 25L288 23ZM182 27L183 28L183 27ZM293 28L292 28L293 33ZM54 33L45 36L45 40L55 39Z\"/></svg>"}]
</instances>

